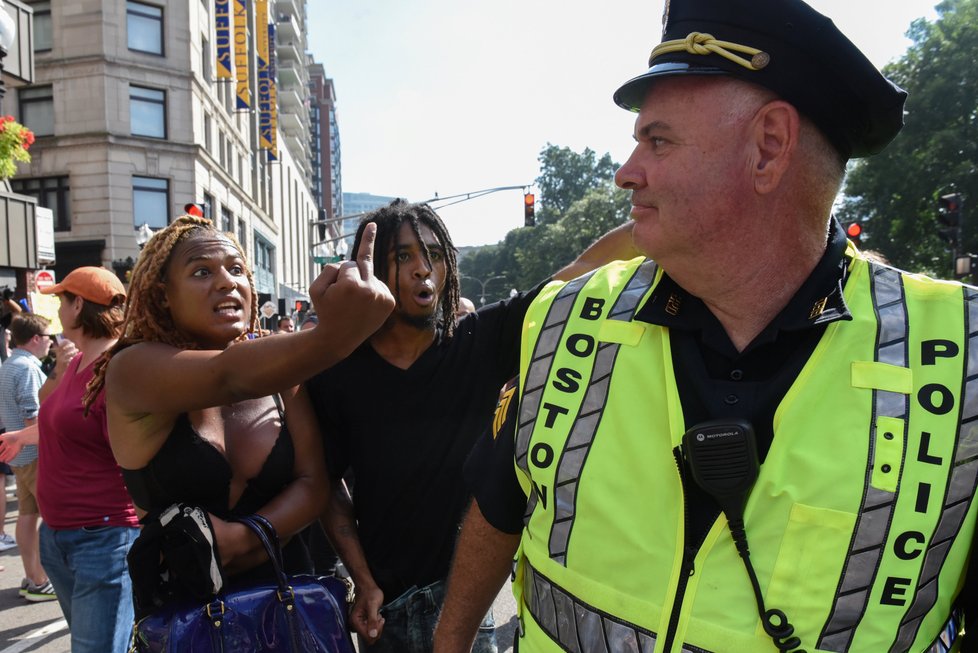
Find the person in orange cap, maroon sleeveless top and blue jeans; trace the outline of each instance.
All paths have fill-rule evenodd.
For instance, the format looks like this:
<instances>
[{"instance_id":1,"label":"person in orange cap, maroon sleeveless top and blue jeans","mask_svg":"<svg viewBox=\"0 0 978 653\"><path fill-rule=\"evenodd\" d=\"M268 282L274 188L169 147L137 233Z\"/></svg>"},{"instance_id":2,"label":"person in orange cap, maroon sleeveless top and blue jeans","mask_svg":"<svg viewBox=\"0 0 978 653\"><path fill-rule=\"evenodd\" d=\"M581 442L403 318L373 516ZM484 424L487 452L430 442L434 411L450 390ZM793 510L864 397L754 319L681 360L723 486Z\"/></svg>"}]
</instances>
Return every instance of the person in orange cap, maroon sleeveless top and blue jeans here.
<instances>
[{"instance_id":1,"label":"person in orange cap, maroon sleeveless top and blue jeans","mask_svg":"<svg viewBox=\"0 0 978 653\"><path fill-rule=\"evenodd\" d=\"M37 425L7 444L37 444L40 560L72 651L121 652L133 619L126 554L139 522L109 447L104 393L88 415L82 397L95 361L121 333L126 290L111 271L81 267L41 293L60 300L64 337L39 392Z\"/></svg>"}]
</instances>

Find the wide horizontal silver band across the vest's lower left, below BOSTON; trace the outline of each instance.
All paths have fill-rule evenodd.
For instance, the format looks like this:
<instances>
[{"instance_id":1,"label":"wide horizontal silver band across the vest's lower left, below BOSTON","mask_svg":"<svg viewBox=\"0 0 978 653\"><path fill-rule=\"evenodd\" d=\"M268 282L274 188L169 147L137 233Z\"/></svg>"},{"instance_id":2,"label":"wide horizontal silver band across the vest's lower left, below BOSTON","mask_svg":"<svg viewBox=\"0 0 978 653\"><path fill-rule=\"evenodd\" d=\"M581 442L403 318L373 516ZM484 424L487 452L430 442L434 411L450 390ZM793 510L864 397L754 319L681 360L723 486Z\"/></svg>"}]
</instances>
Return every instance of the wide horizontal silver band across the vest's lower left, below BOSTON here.
<instances>
[{"instance_id":1,"label":"wide horizontal silver band across the vest's lower left, below BOSTON","mask_svg":"<svg viewBox=\"0 0 978 653\"><path fill-rule=\"evenodd\" d=\"M581 602L529 563L524 600L544 632L570 653L652 653L655 633ZM692 650L683 649L684 653Z\"/></svg>"}]
</instances>

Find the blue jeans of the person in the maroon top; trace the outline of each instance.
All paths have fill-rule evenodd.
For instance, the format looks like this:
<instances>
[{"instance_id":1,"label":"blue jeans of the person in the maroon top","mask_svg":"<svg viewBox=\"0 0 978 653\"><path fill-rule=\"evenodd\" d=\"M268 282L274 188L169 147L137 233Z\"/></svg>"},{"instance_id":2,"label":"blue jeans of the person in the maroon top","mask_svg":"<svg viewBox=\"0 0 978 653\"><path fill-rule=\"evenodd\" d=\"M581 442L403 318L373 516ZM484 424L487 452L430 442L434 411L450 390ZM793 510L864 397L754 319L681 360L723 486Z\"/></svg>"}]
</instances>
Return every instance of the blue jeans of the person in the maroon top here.
<instances>
[{"instance_id":1,"label":"blue jeans of the person in the maroon top","mask_svg":"<svg viewBox=\"0 0 978 653\"><path fill-rule=\"evenodd\" d=\"M68 622L72 653L127 650L133 609L126 554L138 534L127 526L41 524L41 566Z\"/></svg>"}]
</instances>

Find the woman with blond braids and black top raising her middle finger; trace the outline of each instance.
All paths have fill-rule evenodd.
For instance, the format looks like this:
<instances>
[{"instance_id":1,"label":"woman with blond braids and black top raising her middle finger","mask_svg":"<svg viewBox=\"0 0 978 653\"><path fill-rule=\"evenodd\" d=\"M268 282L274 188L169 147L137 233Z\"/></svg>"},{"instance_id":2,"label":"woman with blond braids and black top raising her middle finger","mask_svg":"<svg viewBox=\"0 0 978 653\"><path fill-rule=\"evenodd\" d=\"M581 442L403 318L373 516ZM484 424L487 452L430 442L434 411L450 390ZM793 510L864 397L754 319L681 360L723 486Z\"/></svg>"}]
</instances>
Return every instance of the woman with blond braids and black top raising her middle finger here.
<instances>
[{"instance_id":1,"label":"woman with blond braids and black top raising her middle finger","mask_svg":"<svg viewBox=\"0 0 978 653\"><path fill-rule=\"evenodd\" d=\"M372 275L373 240L371 231L355 261L327 266L310 286L319 314L333 319L258 339L248 337L257 293L233 236L183 216L144 247L122 336L85 397L93 402L104 387L112 451L144 515L129 556L137 619L270 572L257 537L234 517L260 514L285 542L322 512L328 482L315 417L294 386L353 351L390 312L390 293ZM308 571L299 538L285 558L289 571Z\"/></svg>"}]
</instances>

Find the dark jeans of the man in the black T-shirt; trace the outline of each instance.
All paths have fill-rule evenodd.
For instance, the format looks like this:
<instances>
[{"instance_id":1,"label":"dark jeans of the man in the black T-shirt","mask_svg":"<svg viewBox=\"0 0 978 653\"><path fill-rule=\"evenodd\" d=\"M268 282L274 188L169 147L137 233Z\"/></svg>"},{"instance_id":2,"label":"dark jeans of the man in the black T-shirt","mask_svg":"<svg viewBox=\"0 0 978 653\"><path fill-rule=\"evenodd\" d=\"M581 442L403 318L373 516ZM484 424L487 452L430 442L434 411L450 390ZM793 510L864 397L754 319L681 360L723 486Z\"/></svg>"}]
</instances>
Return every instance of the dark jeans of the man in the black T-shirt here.
<instances>
[{"instance_id":1,"label":"dark jeans of the man in the black T-shirt","mask_svg":"<svg viewBox=\"0 0 978 653\"><path fill-rule=\"evenodd\" d=\"M445 602L445 583L438 581L418 589L412 587L380 609L384 630L372 646L360 638L363 653L429 653L435 624ZM496 653L496 622L492 608L479 626L473 653Z\"/></svg>"}]
</instances>

